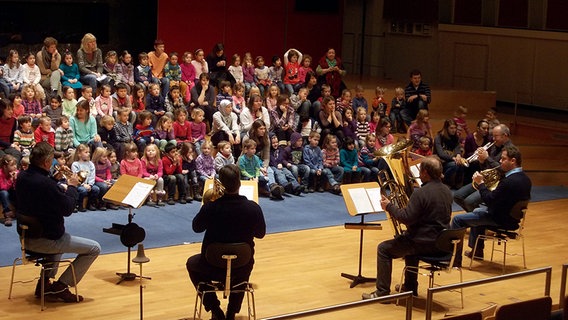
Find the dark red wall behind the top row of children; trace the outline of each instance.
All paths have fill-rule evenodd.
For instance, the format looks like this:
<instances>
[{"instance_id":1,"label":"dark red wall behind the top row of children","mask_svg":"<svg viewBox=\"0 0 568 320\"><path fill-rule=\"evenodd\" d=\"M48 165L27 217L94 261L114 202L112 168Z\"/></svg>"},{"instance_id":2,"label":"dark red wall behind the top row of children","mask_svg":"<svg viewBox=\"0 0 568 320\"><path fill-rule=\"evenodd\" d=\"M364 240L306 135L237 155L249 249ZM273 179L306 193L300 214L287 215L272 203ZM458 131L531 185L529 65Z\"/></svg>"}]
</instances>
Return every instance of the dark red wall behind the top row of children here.
<instances>
[{"instance_id":1,"label":"dark red wall behind the top row of children","mask_svg":"<svg viewBox=\"0 0 568 320\"><path fill-rule=\"evenodd\" d=\"M295 2L160 0L158 38L166 43L166 52L180 54L201 48L207 55L215 43L222 42L229 60L234 53L242 57L250 51L268 62L288 48L310 54L316 61L328 47L341 56L343 2L339 12L332 14L296 12Z\"/></svg>"}]
</instances>

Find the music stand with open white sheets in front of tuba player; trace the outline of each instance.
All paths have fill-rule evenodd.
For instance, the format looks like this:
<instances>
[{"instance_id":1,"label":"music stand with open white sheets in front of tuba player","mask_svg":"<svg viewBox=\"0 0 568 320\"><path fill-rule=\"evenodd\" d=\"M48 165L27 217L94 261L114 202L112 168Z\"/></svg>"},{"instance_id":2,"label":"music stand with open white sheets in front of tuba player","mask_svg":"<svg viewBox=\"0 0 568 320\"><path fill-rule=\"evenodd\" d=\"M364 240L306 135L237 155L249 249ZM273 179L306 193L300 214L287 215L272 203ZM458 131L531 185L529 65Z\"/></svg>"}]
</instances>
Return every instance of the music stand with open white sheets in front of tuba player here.
<instances>
[{"instance_id":1,"label":"music stand with open white sheets in front of tuba player","mask_svg":"<svg viewBox=\"0 0 568 320\"><path fill-rule=\"evenodd\" d=\"M366 282L375 282L376 278L361 275L363 264L363 232L364 230L382 230L380 223L366 223L365 215L383 211L381 208L381 188L376 182L354 183L341 186L341 193L347 212L351 216L360 216L361 222L345 223L345 229L359 230L359 273L357 275L341 273L341 276L352 280L350 288Z\"/></svg>"}]
</instances>

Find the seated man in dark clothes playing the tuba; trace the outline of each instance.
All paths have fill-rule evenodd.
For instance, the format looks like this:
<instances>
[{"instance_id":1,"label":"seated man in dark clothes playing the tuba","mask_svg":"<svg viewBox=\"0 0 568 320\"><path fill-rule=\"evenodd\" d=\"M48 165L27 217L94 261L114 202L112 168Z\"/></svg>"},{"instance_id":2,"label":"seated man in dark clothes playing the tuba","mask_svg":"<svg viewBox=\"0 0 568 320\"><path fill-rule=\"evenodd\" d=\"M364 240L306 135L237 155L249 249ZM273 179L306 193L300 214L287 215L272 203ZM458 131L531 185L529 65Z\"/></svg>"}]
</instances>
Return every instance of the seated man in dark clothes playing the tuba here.
<instances>
[{"instance_id":1,"label":"seated man in dark clothes playing the tuba","mask_svg":"<svg viewBox=\"0 0 568 320\"><path fill-rule=\"evenodd\" d=\"M389 295L391 292L392 260L404 257L407 266L418 266L417 255L438 253L436 238L449 227L452 213L452 193L442 183L442 163L429 156L420 164L422 187L410 196L406 208L399 208L384 195L381 206L392 217L404 223L407 230L394 239L383 241L377 249L377 290L364 293L363 299ZM402 291L418 292L417 274L406 272Z\"/></svg>"}]
</instances>

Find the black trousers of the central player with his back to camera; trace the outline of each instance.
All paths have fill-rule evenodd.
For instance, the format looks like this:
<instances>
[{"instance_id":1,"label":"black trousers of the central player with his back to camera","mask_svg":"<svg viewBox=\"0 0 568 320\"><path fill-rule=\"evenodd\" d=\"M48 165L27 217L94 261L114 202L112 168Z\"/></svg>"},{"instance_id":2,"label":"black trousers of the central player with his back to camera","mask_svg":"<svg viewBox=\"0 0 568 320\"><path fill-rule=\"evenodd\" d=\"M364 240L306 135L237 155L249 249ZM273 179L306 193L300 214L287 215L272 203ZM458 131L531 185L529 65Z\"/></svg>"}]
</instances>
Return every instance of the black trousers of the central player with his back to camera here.
<instances>
[{"instance_id":1,"label":"black trousers of the central player with his back to camera","mask_svg":"<svg viewBox=\"0 0 568 320\"><path fill-rule=\"evenodd\" d=\"M225 282L226 269L216 268L211 266L205 261L205 258L201 258L201 254L196 254L189 257L186 263L187 272L189 272L189 278L193 285L197 288L200 282L208 281L221 281ZM241 268L231 270L231 286L242 283L243 281L248 281L250 273L252 272L252 264L246 265ZM227 306L227 313L239 313L241 310L241 304L243 303L245 293L231 293L229 295L229 305ZM202 297L203 305L206 311L210 311L212 308L219 307L220 302L215 294L206 294Z\"/></svg>"}]
</instances>

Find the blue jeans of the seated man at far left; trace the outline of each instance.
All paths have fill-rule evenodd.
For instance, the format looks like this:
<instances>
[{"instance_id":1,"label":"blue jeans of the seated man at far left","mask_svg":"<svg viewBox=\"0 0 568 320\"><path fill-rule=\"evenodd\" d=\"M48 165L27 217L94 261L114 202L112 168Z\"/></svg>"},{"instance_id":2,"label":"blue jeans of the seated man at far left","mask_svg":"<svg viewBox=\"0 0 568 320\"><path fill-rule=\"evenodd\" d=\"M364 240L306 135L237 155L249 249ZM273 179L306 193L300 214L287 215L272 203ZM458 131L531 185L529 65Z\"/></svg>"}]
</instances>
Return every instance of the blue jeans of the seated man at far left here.
<instances>
[{"instance_id":1,"label":"blue jeans of the seated man at far left","mask_svg":"<svg viewBox=\"0 0 568 320\"><path fill-rule=\"evenodd\" d=\"M63 234L63 236L57 240L46 238L26 238L26 249L39 253L52 254L52 256L48 258L48 261L61 260L61 256L64 253L78 254L75 260L71 263L75 268L77 283L81 281L93 261L95 261L101 252L101 246L98 242L91 239L72 236L68 233ZM48 271L48 278L55 278L57 275L57 264L55 264L54 267L55 268L53 270ZM59 277L59 281L68 286L76 285L76 283L73 282L71 267L65 269Z\"/></svg>"}]
</instances>

